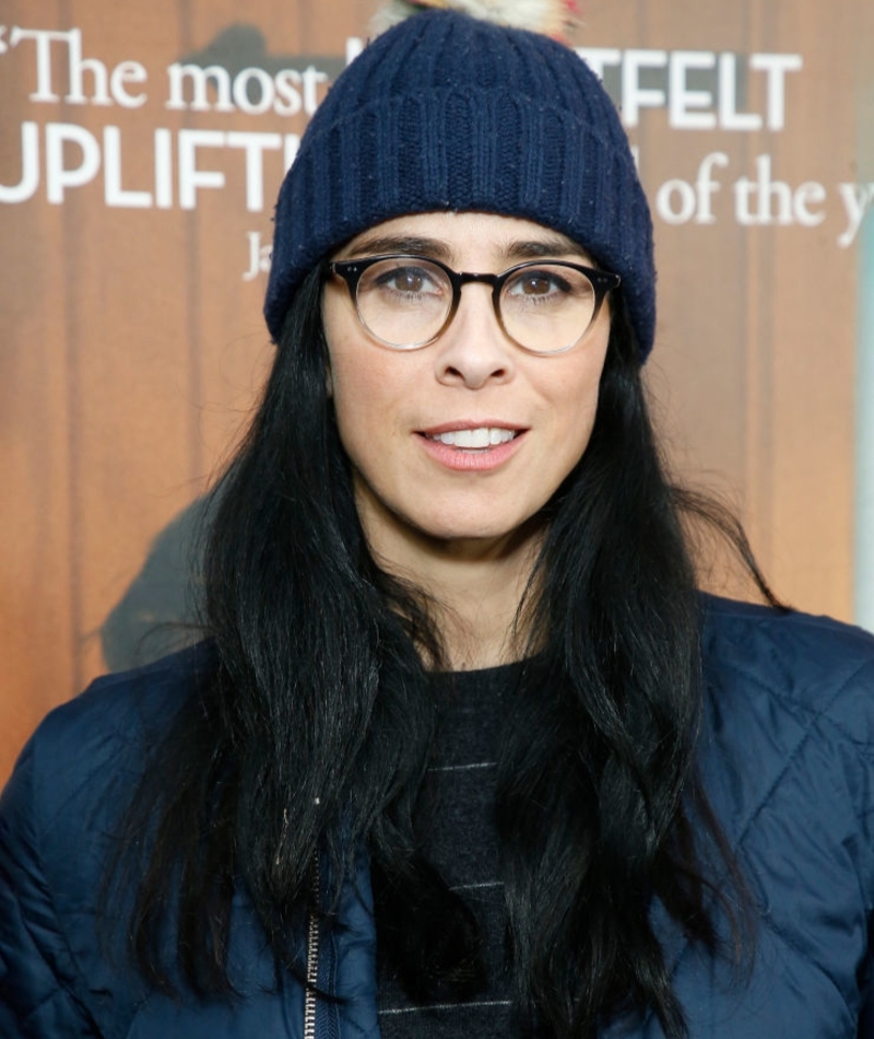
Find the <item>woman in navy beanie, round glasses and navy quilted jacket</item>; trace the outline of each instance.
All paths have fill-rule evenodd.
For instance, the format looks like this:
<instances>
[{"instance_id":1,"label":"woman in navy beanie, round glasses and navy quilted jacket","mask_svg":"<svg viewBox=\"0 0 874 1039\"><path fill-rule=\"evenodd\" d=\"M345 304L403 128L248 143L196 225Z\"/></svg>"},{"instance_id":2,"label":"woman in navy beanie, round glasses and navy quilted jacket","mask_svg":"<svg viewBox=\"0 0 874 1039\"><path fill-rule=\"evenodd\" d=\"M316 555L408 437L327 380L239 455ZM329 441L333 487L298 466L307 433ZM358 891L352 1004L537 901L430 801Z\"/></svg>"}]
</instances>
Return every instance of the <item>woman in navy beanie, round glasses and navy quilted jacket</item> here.
<instances>
[{"instance_id":1,"label":"woman in navy beanie, round glasses and navy quilted jacket","mask_svg":"<svg viewBox=\"0 0 874 1039\"><path fill-rule=\"evenodd\" d=\"M874 640L695 589L595 78L390 30L302 142L265 315L210 640L4 794L4 1034L866 1034Z\"/></svg>"}]
</instances>

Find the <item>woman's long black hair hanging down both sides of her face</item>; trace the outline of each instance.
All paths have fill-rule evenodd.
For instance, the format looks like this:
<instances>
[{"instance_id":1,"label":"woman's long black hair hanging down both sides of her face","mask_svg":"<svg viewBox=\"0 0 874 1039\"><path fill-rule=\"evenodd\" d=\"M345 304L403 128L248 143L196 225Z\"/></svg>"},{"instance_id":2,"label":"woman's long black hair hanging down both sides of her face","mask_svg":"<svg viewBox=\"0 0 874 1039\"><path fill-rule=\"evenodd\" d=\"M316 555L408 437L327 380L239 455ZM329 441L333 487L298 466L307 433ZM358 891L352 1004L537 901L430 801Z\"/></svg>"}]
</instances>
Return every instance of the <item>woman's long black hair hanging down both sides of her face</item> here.
<instances>
[{"instance_id":1,"label":"woman's long black hair hanging down both sides of her face","mask_svg":"<svg viewBox=\"0 0 874 1039\"><path fill-rule=\"evenodd\" d=\"M215 670L176 715L128 815L128 834L151 834L133 864L134 949L164 989L173 906L186 982L231 992L240 880L277 961L300 974L306 915L331 925L362 849L408 989L463 991L476 958L475 921L414 838L436 717L423 658L439 666L439 634L426 597L368 552L326 376L314 272L216 491L203 569ZM593 1035L624 1009L685 1034L653 899L713 952L718 912L742 934L701 866L716 849L743 891L695 770L701 618L684 511L731 527L665 477L617 297L592 437L546 506L520 607L538 682L520 681L498 769L517 1002L546 1036ZM316 906L319 853L329 883Z\"/></svg>"}]
</instances>

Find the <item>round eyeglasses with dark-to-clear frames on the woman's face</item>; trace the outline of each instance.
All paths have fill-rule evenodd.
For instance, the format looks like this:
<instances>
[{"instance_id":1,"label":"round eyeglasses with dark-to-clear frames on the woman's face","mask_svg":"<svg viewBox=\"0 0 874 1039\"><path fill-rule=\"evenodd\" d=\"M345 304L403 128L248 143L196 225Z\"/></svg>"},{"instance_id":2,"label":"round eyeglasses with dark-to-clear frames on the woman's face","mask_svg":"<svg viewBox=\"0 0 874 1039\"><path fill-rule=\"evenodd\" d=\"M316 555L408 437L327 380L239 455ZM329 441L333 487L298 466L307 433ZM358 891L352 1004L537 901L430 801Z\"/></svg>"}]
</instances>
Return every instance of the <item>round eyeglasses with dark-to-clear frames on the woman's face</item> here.
<instances>
[{"instance_id":1,"label":"round eyeglasses with dark-to-clear frames on the woman's face","mask_svg":"<svg viewBox=\"0 0 874 1039\"><path fill-rule=\"evenodd\" d=\"M492 287L504 332L529 353L564 353L586 335L619 276L564 260L527 260L501 275L459 273L427 256L389 254L328 262L349 287L358 319L394 350L438 339L456 316L461 288Z\"/></svg>"}]
</instances>

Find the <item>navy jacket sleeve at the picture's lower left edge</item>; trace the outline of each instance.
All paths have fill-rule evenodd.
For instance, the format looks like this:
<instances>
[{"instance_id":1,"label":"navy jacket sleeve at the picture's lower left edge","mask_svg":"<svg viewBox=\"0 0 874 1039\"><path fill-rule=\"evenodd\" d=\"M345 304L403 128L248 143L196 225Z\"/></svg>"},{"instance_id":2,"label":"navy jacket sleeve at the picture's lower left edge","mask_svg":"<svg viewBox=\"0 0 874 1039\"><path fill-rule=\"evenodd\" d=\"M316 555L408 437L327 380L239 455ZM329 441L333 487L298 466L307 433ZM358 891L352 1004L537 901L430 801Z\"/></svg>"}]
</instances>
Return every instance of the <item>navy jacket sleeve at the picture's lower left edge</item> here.
<instances>
[{"instance_id":1,"label":"navy jacket sleeve at the picture's lower left edge","mask_svg":"<svg viewBox=\"0 0 874 1039\"><path fill-rule=\"evenodd\" d=\"M34 742L0 797L0 1036L99 1036L76 999L75 967L40 862ZM67 854L75 855L76 849Z\"/></svg>"}]
</instances>

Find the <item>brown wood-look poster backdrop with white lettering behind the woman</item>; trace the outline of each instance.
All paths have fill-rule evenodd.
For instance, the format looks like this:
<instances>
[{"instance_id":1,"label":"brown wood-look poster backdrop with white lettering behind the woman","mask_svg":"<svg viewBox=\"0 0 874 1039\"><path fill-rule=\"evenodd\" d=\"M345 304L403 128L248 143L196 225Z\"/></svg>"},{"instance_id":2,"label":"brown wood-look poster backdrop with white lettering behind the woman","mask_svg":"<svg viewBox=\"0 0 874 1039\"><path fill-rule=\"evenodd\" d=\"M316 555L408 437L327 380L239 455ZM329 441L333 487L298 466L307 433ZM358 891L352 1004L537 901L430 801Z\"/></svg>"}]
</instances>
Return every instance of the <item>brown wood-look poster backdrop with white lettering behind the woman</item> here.
<instances>
[{"instance_id":1,"label":"brown wood-look poster backdrop with white lettering behind the woman","mask_svg":"<svg viewBox=\"0 0 874 1039\"><path fill-rule=\"evenodd\" d=\"M874 627L874 4L579 7L653 207L668 455L786 600ZM271 361L273 201L374 11L0 3L0 781L175 637Z\"/></svg>"}]
</instances>

